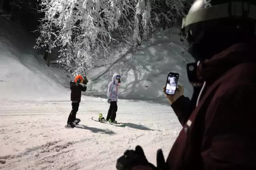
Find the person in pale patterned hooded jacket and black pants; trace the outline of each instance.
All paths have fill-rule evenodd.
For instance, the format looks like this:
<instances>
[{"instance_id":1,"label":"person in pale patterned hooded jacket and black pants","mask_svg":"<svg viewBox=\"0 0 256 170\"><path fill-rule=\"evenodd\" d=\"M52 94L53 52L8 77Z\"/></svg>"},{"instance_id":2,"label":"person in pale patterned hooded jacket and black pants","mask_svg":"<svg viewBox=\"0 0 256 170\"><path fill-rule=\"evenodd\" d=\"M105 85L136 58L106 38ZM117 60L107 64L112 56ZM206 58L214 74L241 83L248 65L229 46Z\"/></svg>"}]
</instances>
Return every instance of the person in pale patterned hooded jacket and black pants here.
<instances>
[{"instance_id":1,"label":"person in pale patterned hooded jacket and black pants","mask_svg":"<svg viewBox=\"0 0 256 170\"><path fill-rule=\"evenodd\" d=\"M108 115L106 121L110 123L116 122L116 111L117 111L117 101L118 101L118 86L121 84L120 74L114 73L112 81L108 84L108 103L110 107L108 109Z\"/></svg>"}]
</instances>

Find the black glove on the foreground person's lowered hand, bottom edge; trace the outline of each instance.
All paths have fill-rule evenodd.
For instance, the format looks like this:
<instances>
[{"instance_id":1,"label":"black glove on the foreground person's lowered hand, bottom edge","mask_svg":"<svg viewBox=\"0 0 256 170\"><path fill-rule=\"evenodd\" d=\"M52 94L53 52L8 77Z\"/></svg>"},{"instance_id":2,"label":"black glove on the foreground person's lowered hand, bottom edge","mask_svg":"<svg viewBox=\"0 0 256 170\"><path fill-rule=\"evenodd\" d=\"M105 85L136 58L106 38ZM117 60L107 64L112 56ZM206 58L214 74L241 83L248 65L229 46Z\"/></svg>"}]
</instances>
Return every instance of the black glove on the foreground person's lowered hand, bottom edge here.
<instances>
[{"instance_id":1,"label":"black glove on the foreground person's lowered hand, bottom edge","mask_svg":"<svg viewBox=\"0 0 256 170\"><path fill-rule=\"evenodd\" d=\"M157 153L157 166L149 163L143 149L140 146L136 146L135 150L126 150L124 155L118 158L116 162L117 170L131 170L134 166L145 165L151 167L153 170L166 170L166 163L164 161L164 155L162 150L158 150Z\"/></svg>"}]
</instances>

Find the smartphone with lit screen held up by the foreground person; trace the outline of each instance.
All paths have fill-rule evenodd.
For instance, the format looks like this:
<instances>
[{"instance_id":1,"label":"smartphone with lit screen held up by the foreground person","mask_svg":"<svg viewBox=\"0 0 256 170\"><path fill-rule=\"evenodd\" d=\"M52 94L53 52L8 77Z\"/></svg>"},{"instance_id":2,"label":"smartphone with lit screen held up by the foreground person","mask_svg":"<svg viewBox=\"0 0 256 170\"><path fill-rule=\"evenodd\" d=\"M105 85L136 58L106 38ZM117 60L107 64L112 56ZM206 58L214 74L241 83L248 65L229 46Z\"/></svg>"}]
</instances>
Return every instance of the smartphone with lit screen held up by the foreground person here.
<instances>
[{"instance_id":1,"label":"smartphone with lit screen held up by the foreground person","mask_svg":"<svg viewBox=\"0 0 256 170\"><path fill-rule=\"evenodd\" d=\"M177 89L178 85L178 79L179 79L179 74L178 73L172 73L170 72L167 76L166 80L166 89L165 89L165 94L166 95L174 95Z\"/></svg>"}]
</instances>

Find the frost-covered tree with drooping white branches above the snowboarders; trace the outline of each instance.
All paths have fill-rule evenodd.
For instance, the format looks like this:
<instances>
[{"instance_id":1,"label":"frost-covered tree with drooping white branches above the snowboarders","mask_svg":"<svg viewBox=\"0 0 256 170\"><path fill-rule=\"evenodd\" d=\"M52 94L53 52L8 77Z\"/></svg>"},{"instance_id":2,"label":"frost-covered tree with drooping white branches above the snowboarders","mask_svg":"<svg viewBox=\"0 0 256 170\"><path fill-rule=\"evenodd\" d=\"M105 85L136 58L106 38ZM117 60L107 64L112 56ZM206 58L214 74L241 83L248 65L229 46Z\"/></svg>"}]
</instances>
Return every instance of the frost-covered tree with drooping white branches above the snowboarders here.
<instances>
[{"instance_id":1,"label":"frost-covered tree with drooping white branches above the snowboarders","mask_svg":"<svg viewBox=\"0 0 256 170\"><path fill-rule=\"evenodd\" d=\"M59 49L58 62L75 67L74 74L94 67L99 56L108 59L112 42L138 45L156 24L182 15L184 0L41 0L45 13L36 48ZM165 19L162 19L165 18Z\"/></svg>"}]
</instances>

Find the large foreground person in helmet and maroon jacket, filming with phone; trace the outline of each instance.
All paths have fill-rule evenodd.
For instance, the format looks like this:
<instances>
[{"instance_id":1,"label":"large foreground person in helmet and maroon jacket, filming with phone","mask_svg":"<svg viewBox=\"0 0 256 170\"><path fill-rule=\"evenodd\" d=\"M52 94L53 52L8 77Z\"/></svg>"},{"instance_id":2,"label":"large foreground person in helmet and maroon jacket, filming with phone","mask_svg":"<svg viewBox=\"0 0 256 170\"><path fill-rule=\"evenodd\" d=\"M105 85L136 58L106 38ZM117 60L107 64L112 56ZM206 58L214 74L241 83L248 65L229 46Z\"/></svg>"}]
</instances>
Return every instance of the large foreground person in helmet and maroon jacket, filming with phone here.
<instances>
[{"instance_id":1,"label":"large foreground person in helmet and maroon jacket, filming with phone","mask_svg":"<svg viewBox=\"0 0 256 170\"><path fill-rule=\"evenodd\" d=\"M163 91L182 130L157 167L142 147L126 150L118 170L256 169L256 1L195 0L182 22L188 52L192 98Z\"/></svg>"}]
</instances>

